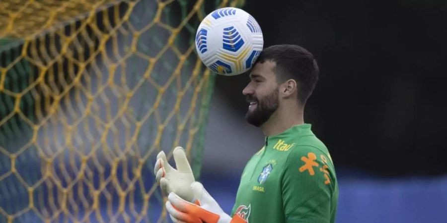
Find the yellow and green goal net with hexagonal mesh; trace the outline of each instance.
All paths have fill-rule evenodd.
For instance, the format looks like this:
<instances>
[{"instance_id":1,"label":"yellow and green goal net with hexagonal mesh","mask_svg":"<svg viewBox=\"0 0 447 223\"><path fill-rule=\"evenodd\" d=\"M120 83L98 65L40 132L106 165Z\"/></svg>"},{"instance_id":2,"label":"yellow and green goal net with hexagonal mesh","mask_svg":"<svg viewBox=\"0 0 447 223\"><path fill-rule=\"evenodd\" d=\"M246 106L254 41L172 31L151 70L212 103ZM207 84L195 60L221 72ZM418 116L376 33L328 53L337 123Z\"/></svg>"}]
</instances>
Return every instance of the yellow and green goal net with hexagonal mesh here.
<instances>
[{"instance_id":1,"label":"yellow and green goal net with hexagonal mesh","mask_svg":"<svg viewBox=\"0 0 447 223\"><path fill-rule=\"evenodd\" d=\"M0 223L165 222L156 154L199 176L201 19L241 0L2 0Z\"/></svg>"}]
</instances>

